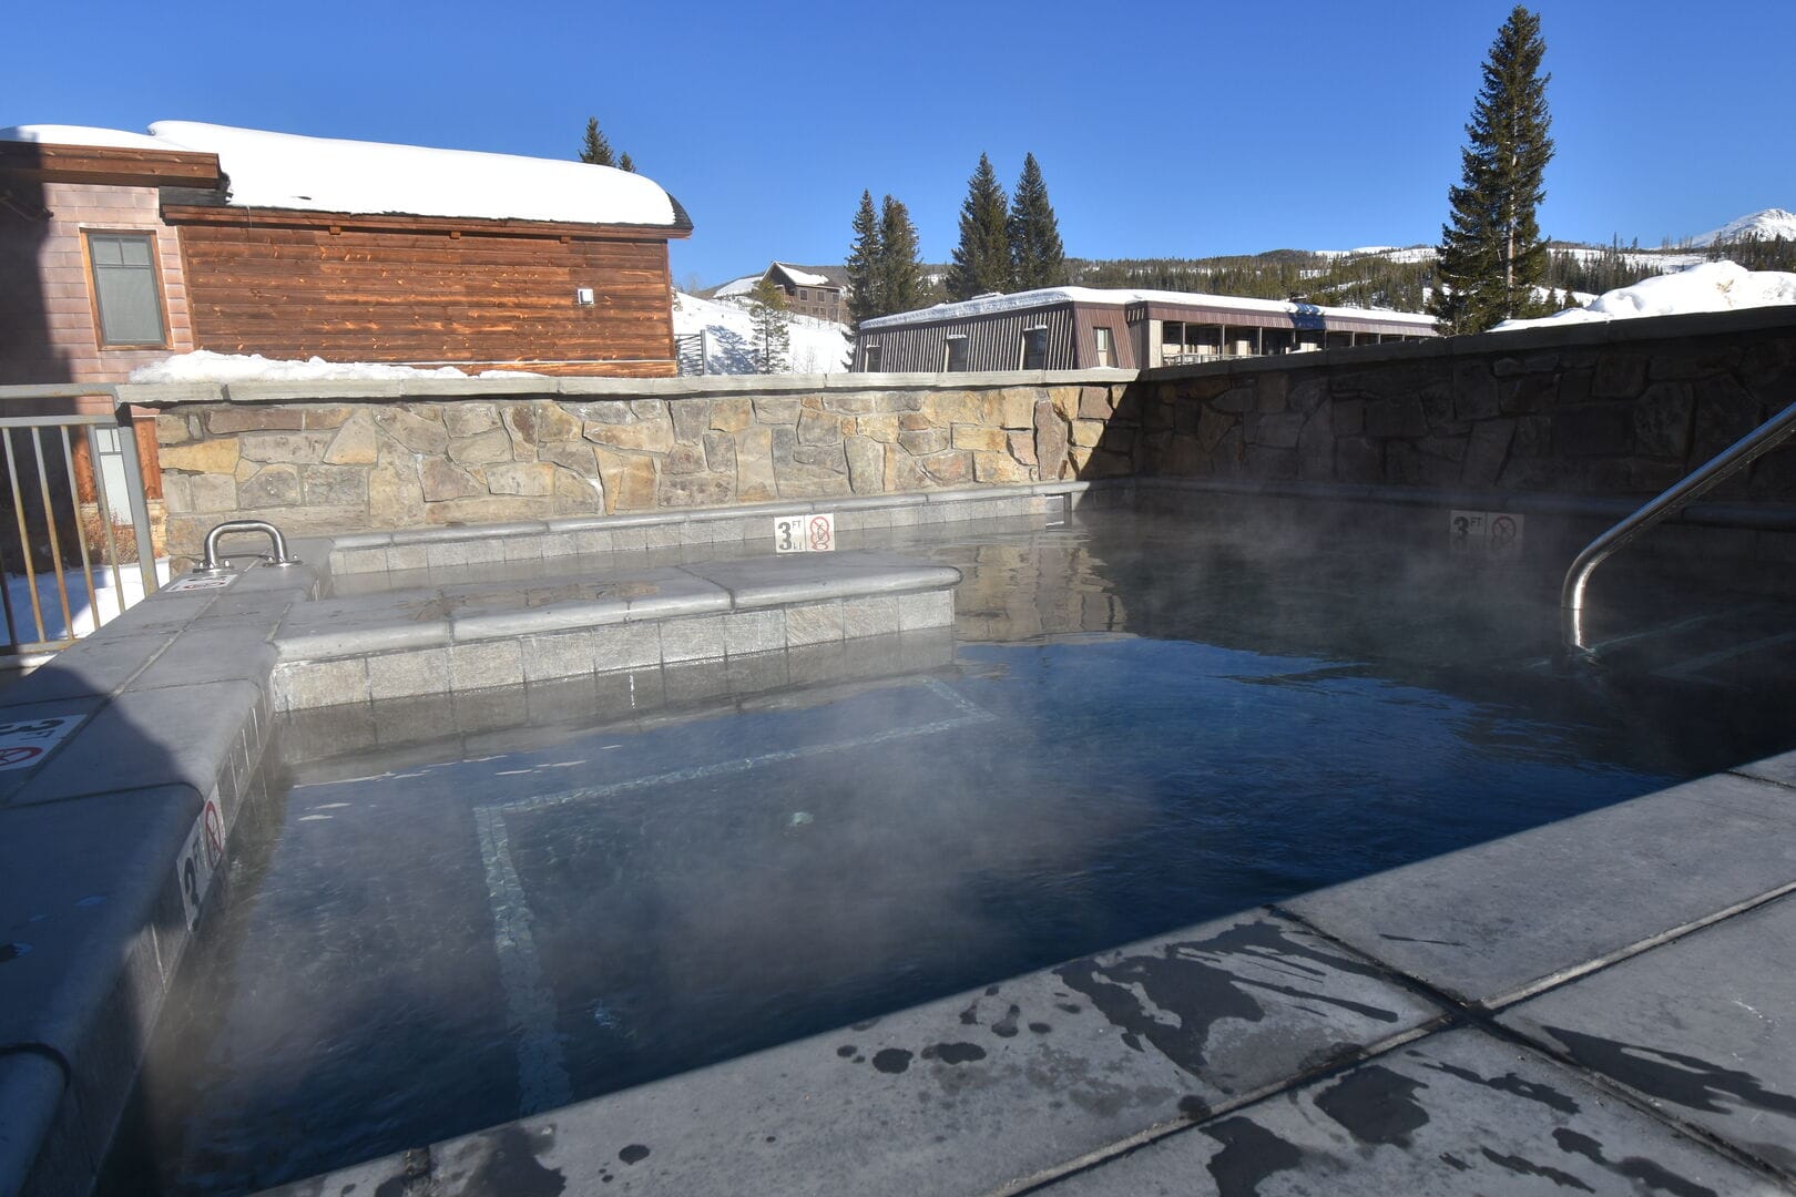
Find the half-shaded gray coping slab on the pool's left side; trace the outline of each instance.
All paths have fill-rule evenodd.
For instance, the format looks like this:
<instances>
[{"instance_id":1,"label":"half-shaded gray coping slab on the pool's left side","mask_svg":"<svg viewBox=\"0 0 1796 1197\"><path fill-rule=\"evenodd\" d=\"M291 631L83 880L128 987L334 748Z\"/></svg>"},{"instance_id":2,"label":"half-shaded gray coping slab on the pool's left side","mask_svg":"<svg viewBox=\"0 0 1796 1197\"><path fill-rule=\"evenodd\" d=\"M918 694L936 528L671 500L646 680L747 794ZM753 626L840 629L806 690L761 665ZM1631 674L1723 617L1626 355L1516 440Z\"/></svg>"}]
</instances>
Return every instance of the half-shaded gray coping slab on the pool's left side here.
<instances>
[{"instance_id":1,"label":"half-shaded gray coping slab on the pool's left side","mask_svg":"<svg viewBox=\"0 0 1796 1197\"><path fill-rule=\"evenodd\" d=\"M208 793L259 703L260 691L246 680L120 695L90 718L11 804L165 784Z\"/></svg>"}]
</instances>

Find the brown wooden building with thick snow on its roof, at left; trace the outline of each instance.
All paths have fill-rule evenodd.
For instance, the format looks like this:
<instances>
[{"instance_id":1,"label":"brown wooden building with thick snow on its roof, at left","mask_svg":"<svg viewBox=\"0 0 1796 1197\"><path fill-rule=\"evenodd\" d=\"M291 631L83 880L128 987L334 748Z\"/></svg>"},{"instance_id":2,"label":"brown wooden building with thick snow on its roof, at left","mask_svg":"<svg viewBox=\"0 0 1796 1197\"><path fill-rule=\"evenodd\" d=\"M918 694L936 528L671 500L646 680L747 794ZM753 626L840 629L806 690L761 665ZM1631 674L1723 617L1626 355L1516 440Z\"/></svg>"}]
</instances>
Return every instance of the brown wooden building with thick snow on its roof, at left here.
<instances>
[{"instance_id":1,"label":"brown wooden building with thick snow on its roof, at left","mask_svg":"<svg viewBox=\"0 0 1796 1197\"><path fill-rule=\"evenodd\" d=\"M189 350L674 375L654 181L189 122L0 129L0 382Z\"/></svg>"}]
</instances>

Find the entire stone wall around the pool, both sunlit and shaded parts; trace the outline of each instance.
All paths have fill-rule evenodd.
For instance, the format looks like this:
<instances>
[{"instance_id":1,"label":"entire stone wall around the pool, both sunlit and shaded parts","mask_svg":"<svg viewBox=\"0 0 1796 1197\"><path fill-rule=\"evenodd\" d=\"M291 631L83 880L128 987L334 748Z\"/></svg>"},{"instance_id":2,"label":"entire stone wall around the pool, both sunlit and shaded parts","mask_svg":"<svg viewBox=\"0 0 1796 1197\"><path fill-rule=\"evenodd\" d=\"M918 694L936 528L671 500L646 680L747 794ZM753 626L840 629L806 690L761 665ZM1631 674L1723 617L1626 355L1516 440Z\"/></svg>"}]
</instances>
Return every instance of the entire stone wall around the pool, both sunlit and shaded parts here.
<instances>
[{"instance_id":1,"label":"entire stone wall around the pool, both sunlit and shaded parts","mask_svg":"<svg viewBox=\"0 0 1796 1197\"><path fill-rule=\"evenodd\" d=\"M1214 477L1651 495L1796 400L1796 310L1153 370L128 386L158 407L169 546ZM1717 499L1796 499L1796 450Z\"/></svg>"}]
</instances>

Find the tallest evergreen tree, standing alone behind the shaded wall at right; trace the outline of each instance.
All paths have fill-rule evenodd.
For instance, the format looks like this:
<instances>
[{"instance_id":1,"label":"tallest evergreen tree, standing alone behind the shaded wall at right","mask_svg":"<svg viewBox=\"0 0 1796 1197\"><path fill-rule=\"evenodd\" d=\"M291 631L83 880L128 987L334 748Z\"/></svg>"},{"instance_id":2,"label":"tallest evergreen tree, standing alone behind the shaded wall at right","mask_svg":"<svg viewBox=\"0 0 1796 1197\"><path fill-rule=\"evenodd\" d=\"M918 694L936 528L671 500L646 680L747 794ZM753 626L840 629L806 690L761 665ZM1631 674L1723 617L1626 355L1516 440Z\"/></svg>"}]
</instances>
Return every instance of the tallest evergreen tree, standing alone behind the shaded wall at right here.
<instances>
[{"instance_id":1,"label":"tallest evergreen tree, standing alone behind the shaded wall at right","mask_svg":"<svg viewBox=\"0 0 1796 1197\"><path fill-rule=\"evenodd\" d=\"M1451 223L1440 226L1442 285L1431 310L1453 332L1483 332L1543 307L1534 285L1546 273L1546 240L1534 212L1554 156L1545 52L1541 18L1518 4L1483 63L1460 185L1448 190Z\"/></svg>"}]
</instances>

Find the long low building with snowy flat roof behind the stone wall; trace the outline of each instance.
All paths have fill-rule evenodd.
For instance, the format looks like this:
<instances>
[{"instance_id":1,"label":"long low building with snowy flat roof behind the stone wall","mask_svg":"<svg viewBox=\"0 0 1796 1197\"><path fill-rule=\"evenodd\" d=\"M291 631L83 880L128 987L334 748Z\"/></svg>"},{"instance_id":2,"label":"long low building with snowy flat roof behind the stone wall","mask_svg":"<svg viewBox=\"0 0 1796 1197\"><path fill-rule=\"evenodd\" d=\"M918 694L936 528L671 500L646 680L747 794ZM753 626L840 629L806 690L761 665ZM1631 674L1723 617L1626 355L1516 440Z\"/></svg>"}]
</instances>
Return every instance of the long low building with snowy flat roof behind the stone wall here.
<instances>
[{"instance_id":1,"label":"long low building with snowy flat roof behind the stone wall","mask_svg":"<svg viewBox=\"0 0 1796 1197\"><path fill-rule=\"evenodd\" d=\"M860 321L855 370L1140 370L1435 336L1431 316L1180 291L1051 287Z\"/></svg>"}]
</instances>

